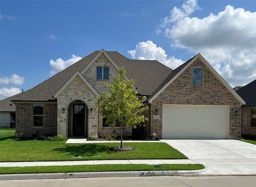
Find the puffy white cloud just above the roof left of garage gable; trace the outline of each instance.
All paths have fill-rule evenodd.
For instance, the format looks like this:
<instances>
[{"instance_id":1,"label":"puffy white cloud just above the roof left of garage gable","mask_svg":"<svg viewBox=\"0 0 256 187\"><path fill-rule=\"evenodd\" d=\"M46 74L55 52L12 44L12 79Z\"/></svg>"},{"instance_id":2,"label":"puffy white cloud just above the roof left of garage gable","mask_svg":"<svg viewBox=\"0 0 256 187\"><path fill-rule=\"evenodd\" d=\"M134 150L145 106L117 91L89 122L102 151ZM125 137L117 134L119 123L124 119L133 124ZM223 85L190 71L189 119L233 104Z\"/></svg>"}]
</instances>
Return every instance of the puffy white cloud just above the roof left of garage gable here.
<instances>
[{"instance_id":1,"label":"puffy white cloud just above the roof left of garage gable","mask_svg":"<svg viewBox=\"0 0 256 187\"><path fill-rule=\"evenodd\" d=\"M138 60L157 60L169 68L175 69L184 62L176 59L174 56L167 58L167 54L161 47L157 47L152 41L140 42L136 45L135 50L130 50L128 53L134 59Z\"/></svg>"}]
</instances>

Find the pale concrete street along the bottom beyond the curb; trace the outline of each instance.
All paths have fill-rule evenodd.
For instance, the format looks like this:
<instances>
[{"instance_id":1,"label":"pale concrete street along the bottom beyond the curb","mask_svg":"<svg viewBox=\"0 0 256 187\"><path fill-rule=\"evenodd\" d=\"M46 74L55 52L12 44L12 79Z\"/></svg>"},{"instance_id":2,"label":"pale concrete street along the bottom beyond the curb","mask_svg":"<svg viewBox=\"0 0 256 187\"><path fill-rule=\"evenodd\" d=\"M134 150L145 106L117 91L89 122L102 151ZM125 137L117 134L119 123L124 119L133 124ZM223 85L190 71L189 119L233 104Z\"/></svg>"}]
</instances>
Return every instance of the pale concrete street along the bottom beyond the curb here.
<instances>
[{"instance_id":1,"label":"pale concrete street along the bottom beyond the curb","mask_svg":"<svg viewBox=\"0 0 256 187\"><path fill-rule=\"evenodd\" d=\"M255 187L256 176L100 177L2 180L1 187Z\"/></svg>"}]
</instances>

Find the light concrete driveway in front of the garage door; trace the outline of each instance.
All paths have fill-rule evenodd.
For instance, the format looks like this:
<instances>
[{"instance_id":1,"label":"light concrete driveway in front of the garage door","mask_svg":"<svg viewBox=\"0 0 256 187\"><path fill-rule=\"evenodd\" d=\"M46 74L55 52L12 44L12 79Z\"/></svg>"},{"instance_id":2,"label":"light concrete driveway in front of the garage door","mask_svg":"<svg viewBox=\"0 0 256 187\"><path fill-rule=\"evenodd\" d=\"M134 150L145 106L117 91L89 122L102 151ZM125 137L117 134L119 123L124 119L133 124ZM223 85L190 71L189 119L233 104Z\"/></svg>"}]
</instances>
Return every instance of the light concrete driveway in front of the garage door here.
<instances>
[{"instance_id":1,"label":"light concrete driveway in front of the garage door","mask_svg":"<svg viewBox=\"0 0 256 187\"><path fill-rule=\"evenodd\" d=\"M202 175L256 175L256 145L233 139L161 140L203 164Z\"/></svg>"}]
</instances>

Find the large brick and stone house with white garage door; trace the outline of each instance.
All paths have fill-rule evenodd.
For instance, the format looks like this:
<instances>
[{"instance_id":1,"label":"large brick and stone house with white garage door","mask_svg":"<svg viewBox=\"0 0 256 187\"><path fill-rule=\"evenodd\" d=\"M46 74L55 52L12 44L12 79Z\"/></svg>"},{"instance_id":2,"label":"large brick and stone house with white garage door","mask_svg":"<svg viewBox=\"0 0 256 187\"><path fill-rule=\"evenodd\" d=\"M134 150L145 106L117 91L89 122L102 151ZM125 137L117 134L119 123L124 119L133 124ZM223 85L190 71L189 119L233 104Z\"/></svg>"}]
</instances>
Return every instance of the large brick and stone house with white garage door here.
<instances>
[{"instance_id":1,"label":"large brick and stone house with white garage door","mask_svg":"<svg viewBox=\"0 0 256 187\"><path fill-rule=\"evenodd\" d=\"M104 84L126 68L137 96L146 96L145 127L129 133L164 139L235 139L241 137L244 100L197 54L175 70L156 60L130 60L118 52L95 51L48 80L27 90L16 103L16 133L27 137L118 134L95 106Z\"/></svg>"}]
</instances>

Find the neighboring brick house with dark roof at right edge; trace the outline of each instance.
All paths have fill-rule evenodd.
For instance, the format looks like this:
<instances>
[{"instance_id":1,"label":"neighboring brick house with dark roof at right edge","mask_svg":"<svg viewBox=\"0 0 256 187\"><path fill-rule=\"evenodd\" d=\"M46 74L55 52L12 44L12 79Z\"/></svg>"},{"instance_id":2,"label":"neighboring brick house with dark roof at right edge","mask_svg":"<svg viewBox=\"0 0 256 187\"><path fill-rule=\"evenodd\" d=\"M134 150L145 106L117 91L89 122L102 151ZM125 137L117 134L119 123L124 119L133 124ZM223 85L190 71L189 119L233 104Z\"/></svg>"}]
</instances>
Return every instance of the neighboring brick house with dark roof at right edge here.
<instances>
[{"instance_id":1,"label":"neighboring brick house with dark roof at right edge","mask_svg":"<svg viewBox=\"0 0 256 187\"><path fill-rule=\"evenodd\" d=\"M256 80L236 92L246 101L242 105L242 135L256 135Z\"/></svg>"}]
</instances>

